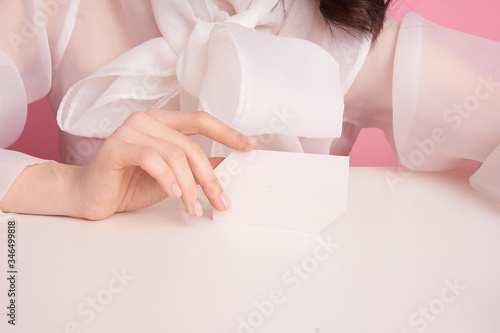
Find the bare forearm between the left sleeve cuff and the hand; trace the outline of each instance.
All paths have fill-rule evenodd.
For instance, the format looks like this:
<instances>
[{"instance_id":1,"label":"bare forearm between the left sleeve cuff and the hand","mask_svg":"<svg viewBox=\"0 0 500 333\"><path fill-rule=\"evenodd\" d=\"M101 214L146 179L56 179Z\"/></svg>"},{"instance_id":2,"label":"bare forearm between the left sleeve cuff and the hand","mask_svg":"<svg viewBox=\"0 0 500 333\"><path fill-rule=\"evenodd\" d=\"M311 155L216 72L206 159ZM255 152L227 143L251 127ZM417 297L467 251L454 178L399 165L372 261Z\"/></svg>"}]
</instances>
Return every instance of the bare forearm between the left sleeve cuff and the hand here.
<instances>
[{"instance_id":1,"label":"bare forearm between the left sleeve cuff and the hand","mask_svg":"<svg viewBox=\"0 0 500 333\"><path fill-rule=\"evenodd\" d=\"M75 205L77 168L56 162L27 166L0 201L0 210L80 217Z\"/></svg>"}]
</instances>

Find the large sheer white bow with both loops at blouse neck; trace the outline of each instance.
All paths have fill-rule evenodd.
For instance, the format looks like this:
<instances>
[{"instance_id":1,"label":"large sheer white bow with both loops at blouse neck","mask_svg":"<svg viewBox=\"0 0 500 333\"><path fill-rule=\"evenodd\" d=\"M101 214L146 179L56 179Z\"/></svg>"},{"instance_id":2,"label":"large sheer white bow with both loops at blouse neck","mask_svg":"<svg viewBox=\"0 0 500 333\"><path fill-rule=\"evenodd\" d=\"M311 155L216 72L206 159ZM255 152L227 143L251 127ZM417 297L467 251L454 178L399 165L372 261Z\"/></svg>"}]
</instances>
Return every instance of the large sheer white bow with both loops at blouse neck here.
<instances>
[{"instance_id":1,"label":"large sheer white bow with both loops at blouse neck","mask_svg":"<svg viewBox=\"0 0 500 333\"><path fill-rule=\"evenodd\" d=\"M162 18L163 38L133 48L68 90L59 126L106 138L131 113L162 108L183 91L199 99L198 109L247 135L339 137L344 106L338 62L307 40L255 30L271 9L251 3L232 14L176 3L178 14L191 20L177 28L187 40L167 31L170 15ZM172 3L155 6L166 10Z\"/></svg>"}]
</instances>

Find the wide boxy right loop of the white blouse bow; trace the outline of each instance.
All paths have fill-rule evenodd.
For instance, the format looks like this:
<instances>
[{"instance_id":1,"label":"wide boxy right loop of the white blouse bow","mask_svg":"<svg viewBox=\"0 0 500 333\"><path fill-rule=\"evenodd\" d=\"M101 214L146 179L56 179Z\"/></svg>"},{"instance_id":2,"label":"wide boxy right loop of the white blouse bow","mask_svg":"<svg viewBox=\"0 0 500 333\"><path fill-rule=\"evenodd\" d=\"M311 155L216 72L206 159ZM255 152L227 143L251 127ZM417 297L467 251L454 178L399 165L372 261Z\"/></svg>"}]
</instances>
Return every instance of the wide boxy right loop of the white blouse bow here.
<instances>
[{"instance_id":1,"label":"wide boxy right loop of the white blouse bow","mask_svg":"<svg viewBox=\"0 0 500 333\"><path fill-rule=\"evenodd\" d=\"M330 54L234 23L212 30L200 101L247 135L331 138L342 130L339 65Z\"/></svg>"}]
</instances>

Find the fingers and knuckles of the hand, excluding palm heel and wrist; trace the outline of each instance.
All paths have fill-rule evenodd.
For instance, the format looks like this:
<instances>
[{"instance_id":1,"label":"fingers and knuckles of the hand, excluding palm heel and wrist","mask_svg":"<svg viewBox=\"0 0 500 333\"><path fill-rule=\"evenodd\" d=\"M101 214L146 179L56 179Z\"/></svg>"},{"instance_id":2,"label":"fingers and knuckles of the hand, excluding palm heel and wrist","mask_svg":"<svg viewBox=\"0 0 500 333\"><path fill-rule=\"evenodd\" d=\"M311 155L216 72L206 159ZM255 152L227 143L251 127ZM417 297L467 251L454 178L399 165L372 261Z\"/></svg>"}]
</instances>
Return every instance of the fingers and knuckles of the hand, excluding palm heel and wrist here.
<instances>
[{"instance_id":1,"label":"fingers and knuckles of the hand, excluding palm heel and wrist","mask_svg":"<svg viewBox=\"0 0 500 333\"><path fill-rule=\"evenodd\" d=\"M192 216L203 214L196 183L215 209L231 208L213 171L222 159L209 160L201 146L185 134L208 134L243 151L255 147L253 138L242 136L207 113L152 110L132 114L107 140L115 142L107 151L113 151L119 165L142 168L169 196L181 197Z\"/></svg>"}]
</instances>

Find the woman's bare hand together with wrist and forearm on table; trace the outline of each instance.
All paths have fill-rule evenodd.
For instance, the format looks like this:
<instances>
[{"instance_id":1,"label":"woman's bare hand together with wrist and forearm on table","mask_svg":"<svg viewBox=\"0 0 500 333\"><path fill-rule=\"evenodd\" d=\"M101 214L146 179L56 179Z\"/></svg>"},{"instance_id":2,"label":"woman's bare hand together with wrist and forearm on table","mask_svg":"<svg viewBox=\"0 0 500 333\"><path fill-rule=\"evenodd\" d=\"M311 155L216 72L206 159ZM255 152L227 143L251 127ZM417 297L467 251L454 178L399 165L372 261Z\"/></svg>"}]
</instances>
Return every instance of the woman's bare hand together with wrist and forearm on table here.
<instances>
[{"instance_id":1,"label":"woman's bare hand together with wrist and forearm on table","mask_svg":"<svg viewBox=\"0 0 500 333\"><path fill-rule=\"evenodd\" d=\"M190 215L201 216L198 183L215 209L229 209L231 203L213 171L213 165L221 159L210 161L200 145L188 137L194 134L240 151L251 151L256 144L255 138L242 135L203 111L136 112L103 142L89 165L44 163L27 167L4 196L0 208L6 212L99 220L172 196L182 198ZM27 193L30 180L35 179L38 183L45 181L50 189L35 184L37 189ZM35 192L50 205L30 199ZM23 197L33 202L23 207ZM51 202L57 200L62 201Z\"/></svg>"}]
</instances>

